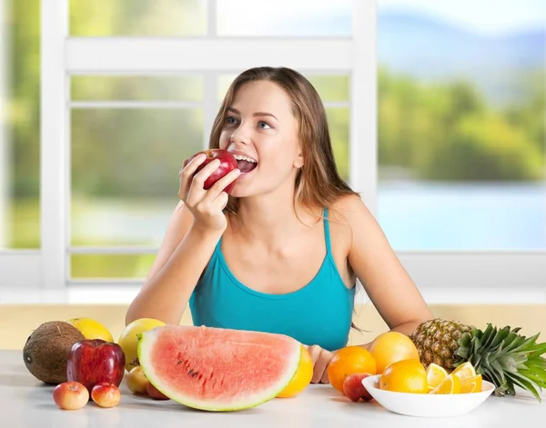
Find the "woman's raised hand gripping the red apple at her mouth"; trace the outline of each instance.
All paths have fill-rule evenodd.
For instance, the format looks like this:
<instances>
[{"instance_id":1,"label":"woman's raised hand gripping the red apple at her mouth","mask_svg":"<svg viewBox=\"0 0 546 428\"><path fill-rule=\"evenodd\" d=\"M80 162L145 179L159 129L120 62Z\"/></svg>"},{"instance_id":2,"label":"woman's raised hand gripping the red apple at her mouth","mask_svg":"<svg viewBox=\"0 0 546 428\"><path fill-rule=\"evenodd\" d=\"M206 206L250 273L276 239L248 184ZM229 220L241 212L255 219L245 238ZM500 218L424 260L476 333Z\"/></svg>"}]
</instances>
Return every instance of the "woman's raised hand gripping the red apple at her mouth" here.
<instances>
[{"instance_id":1,"label":"woman's raised hand gripping the red apple at her mouth","mask_svg":"<svg viewBox=\"0 0 546 428\"><path fill-rule=\"evenodd\" d=\"M222 210L227 204L227 193L223 189L239 176L240 171L238 169L230 171L212 187L205 190L203 188L205 181L220 164L220 161L215 159L195 174L197 167L203 164L206 158L206 154L199 154L182 168L180 174L178 174L180 177L178 197L193 214L195 219L194 227L207 231L224 232L227 227L227 220Z\"/></svg>"}]
</instances>

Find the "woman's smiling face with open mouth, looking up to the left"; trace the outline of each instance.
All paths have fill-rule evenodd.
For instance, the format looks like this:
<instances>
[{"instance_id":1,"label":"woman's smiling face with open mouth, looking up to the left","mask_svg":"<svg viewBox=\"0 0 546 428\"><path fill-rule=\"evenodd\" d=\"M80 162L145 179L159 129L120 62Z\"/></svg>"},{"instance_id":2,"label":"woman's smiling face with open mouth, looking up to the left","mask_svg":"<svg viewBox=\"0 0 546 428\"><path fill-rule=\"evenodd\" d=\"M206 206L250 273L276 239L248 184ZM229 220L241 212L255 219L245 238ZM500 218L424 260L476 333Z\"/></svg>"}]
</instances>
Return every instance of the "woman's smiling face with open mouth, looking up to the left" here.
<instances>
[{"instance_id":1,"label":"woman's smiling face with open mouth, looking up to the left","mask_svg":"<svg viewBox=\"0 0 546 428\"><path fill-rule=\"evenodd\" d=\"M220 148L235 154L242 173L233 196L266 194L294 183L303 160L290 103L273 82L250 82L238 88L219 142Z\"/></svg>"}]
</instances>

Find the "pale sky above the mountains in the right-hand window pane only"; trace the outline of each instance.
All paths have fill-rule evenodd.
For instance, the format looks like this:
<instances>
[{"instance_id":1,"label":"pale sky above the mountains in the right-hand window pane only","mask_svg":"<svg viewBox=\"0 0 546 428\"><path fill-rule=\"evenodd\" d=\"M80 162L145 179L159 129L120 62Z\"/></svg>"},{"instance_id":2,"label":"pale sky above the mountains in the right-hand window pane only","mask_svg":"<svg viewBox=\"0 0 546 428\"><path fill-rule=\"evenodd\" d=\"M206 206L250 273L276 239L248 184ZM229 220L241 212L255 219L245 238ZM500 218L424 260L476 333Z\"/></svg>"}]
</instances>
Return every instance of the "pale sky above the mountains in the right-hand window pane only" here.
<instances>
[{"instance_id":1,"label":"pale sky above the mountains in the right-hand window pane only","mask_svg":"<svg viewBox=\"0 0 546 428\"><path fill-rule=\"evenodd\" d=\"M379 0L379 7L424 12L492 35L546 26L546 0Z\"/></svg>"}]
</instances>

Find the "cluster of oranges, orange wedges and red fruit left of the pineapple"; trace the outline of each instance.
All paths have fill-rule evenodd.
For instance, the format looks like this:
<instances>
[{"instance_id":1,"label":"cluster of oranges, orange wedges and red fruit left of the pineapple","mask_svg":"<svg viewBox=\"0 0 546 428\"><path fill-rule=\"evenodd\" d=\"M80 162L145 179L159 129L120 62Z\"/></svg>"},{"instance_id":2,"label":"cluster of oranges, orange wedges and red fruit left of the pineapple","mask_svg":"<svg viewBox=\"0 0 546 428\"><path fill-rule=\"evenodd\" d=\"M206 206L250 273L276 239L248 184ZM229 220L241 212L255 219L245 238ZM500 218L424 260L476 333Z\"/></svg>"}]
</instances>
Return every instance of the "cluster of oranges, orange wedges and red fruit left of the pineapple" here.
<instances>
[{"instance_id":1,"label":"cluster of oranges, orange wedges and red fruit left of the pineapple","mask_svg":"<svg viewBox=\"0 0 546 428\"><path fill-rule=\"evenodd\" d=\"M397 332L380 334L369 350L347 346L339 350L328 368L329 382L353 402L372 399L362 380L380 374L379 388L397 393L476 393L481 374L471 363L460 364L451 373L436 363L427 369L409 336Z\"/></svg>"}]
</instances>

